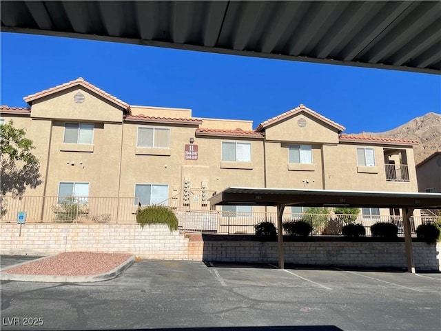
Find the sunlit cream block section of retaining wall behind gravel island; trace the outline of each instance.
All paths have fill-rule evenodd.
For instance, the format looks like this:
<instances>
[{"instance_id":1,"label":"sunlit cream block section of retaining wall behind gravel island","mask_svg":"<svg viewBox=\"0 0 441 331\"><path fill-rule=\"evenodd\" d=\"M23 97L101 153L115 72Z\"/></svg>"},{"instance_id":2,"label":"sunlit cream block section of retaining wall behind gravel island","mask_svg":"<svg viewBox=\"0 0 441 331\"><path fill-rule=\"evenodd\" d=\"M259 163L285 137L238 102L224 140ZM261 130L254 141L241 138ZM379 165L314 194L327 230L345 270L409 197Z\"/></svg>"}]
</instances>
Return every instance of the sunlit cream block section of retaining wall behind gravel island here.
<instances>
[{"instance_id":1,"label":"sunlit cream block section of retaining wall behind gravel island","mask_svg":"<svg viewBox=\"0 0 441 331\"><path fill-rule=\"evenodd\" d=\"M189 239L167 225L1 224L1 254L48 255L59 252L127 252L144 259L189 259ZM191 257L190 257L191 259Z\"/></svg>"}]
</instances>

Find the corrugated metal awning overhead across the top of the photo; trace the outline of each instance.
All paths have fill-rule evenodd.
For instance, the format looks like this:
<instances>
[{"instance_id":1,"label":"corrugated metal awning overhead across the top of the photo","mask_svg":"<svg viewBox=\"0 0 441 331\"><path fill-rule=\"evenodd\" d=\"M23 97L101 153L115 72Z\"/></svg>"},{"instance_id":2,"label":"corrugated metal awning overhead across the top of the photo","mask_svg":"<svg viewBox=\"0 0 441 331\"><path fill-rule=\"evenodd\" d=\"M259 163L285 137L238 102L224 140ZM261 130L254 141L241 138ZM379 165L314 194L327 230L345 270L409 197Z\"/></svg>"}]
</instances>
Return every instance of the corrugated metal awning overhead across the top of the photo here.
<instances>
[{"instance_id":1,"label":"corrugated metal awning overhead across the top of the photo","mask_svg":"<svg viewBox=\"0 0 441 331\"><path fill-rule=\"evenodd\" d=\"M1 31L441 73L440 1L1 1Z\"/></svg>"}]
</instances>

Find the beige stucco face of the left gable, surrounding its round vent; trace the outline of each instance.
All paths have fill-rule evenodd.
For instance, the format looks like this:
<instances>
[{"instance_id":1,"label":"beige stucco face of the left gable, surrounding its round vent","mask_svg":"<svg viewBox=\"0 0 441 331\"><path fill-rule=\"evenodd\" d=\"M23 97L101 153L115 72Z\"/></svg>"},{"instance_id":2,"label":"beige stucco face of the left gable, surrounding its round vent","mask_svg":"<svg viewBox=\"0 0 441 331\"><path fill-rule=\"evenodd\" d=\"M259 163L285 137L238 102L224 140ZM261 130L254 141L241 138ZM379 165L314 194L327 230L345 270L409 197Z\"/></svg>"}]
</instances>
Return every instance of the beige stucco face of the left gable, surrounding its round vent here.
<instances>
[{"instance_id":1,"label":"beige stucco face of the left gable, surrounding its round vent","mask_svg":"<svg viewBox=\"0 0 441 331\"><path fill-rule=\"evenodd\" d=\"M74 94L81 92L83 103L74 102ZM76 86L32 102L33 118L68 119L72 121L122 122L123 110L81 86Z\"/></svg>"}]
</instances>

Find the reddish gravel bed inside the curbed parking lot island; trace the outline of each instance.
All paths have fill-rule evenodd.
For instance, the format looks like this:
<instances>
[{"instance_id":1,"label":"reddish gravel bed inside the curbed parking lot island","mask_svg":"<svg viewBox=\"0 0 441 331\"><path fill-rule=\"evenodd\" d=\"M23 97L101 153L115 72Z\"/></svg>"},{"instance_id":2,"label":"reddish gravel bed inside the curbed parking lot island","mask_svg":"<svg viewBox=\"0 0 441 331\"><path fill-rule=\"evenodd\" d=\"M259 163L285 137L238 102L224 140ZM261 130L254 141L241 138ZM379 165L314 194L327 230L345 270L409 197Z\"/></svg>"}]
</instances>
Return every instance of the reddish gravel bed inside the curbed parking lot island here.
<instances>
[{"instance_id":1,"label":"reddish gravel bed inside the curbed parking lot island","mask_svg":"<svg viewBox=\"0 0 441 331\"><path fill-rule=\"evenodd\" d=\"M65 252L3 271L8 274L47 274L88 276L113 270L129 259L130 254Z\"/></svg>"}]
</instances>

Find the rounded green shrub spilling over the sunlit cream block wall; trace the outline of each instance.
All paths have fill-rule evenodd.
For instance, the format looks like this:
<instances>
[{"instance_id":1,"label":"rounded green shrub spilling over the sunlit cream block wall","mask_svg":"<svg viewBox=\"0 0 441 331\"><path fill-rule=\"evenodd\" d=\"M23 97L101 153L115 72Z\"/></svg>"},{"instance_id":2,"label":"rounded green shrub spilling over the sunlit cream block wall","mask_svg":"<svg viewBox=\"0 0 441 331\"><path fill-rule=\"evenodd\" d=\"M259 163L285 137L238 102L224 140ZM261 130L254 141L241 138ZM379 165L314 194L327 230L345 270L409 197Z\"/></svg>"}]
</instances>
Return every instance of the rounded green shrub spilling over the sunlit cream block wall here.
<instances>
[{"instance_id":1,"label":"rounded green shrub spilling over the sunlit cream block wall","mask_svg":"<svg viewBox=\"0 0 441 331\"><path fill-rule=\"evenodd\" d=\"M136 222L141 228L146 224L167 224L170 231L178 230L178 218L173 210L164 205L149 205L136 212Z\"/></svg>"}]
</instances>

